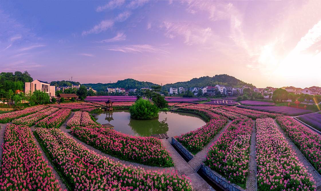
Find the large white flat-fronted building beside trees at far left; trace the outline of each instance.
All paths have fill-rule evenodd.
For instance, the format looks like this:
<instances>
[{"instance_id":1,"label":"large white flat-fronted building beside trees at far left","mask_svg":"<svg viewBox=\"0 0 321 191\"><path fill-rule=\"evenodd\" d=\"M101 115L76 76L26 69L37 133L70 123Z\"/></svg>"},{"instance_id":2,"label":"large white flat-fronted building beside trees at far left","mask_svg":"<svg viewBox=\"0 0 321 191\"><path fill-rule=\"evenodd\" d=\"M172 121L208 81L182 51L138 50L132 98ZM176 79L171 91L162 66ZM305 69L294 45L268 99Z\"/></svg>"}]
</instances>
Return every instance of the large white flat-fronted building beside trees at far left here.
<instances>
[{"instance_id":1,"label":"large white flat-fronted building beside trees at far left","mask_svg":"<svg viewBox=\"0 0 321 191\"><path fill-rule=\"evenodd\" d=\"M47 82L44 82L41 80L26 82L24 87L25 87L25 93L40 90L41 92L48 93L48 95L51 97L54 97L56 93L56 87L54 85L50 85Z\"/></svg>"}]
</instances>

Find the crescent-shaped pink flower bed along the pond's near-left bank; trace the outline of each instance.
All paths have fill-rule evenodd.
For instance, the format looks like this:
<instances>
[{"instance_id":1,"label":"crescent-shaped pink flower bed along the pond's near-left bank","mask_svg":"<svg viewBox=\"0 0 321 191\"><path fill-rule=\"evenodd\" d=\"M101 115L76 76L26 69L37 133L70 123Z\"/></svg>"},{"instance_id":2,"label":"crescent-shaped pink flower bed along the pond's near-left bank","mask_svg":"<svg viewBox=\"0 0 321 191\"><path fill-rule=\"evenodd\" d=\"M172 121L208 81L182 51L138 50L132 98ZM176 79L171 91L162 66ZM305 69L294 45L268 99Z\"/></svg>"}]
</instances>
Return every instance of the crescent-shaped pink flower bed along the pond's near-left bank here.
<instances>
[{"instance_id":1,"label":"crescent-shaped pink flower bed along the pond's near-left bank","mask_svg":"<svg viewBox=\"0 0 321 191\"><path fill-rule=\"evenodd\" d=\"M136 137L101 125L76 126L71 134L100 151L119 159L150 166L174 166L168 151L159 139Z\"/></svg>"}]
</instances>

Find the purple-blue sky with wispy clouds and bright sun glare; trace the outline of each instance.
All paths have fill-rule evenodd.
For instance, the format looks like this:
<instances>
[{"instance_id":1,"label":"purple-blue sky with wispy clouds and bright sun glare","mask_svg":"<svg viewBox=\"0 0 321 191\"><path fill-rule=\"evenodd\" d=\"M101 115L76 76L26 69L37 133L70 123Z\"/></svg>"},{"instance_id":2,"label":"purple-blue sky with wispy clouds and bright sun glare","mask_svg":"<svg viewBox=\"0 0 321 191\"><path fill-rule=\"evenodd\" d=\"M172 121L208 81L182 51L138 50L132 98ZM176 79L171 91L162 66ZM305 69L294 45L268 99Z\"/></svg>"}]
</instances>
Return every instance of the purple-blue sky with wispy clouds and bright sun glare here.
<instances>
[{"instance_id":1,"label":"purple-blue sky with wispy clouds and bright sun glare","mask_svg":"<svg viewBox=\"0 0 321 191\"><path fill-rule=\"evenodd\" d=\"M0 1L0 72L321 86L321 1Z\"/></svg>"}]
</instances>

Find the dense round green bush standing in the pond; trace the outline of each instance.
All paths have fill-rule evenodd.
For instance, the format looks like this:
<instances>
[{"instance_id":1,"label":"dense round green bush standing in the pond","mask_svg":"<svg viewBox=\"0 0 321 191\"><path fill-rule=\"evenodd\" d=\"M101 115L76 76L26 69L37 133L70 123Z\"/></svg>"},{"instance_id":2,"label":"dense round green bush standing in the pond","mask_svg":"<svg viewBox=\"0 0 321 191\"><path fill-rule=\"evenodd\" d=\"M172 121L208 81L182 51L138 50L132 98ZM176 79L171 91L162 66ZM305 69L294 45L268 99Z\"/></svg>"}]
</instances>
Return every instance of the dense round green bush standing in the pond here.
<instances>
[{"instance_id":1,"label":"dense round green bush standing in the pond","mask_svg":"<svg viewBox=\"0 0 321 191\"><path fill-rule=\"evenodd\" d=\"M146 99L138 99L133 106L129 108L129 113L133 119L154 119L158 117L159 109Z\"/></svg>"}]
</instances>

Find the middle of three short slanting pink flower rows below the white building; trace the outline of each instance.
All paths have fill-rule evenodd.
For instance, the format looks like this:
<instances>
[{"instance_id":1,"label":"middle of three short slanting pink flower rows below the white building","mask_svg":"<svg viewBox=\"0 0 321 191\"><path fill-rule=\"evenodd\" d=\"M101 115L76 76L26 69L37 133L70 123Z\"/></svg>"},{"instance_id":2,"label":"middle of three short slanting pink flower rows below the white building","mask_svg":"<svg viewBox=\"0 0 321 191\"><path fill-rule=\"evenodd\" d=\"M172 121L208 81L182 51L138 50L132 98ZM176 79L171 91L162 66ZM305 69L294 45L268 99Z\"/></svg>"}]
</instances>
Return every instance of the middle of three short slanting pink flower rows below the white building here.
<instances>
[{"instance_id":1,"label":"middle of three short slanting pink flower rows below the white building","mask_svg":"<svg viewBox=\"0 0 321 191\"><path fill-rule=\"evenodd\" d=\"M12 123L16 124L16 125L27 125L27 126L31 127L37 121L47 117L48 115L53 114L57 110L58 110L58 108L56 108L56 107L48 107L47 109L38 111L37 113L31 114L31 115L27 115L25 117L21 117L21 118L18 118L18 119L14 119L12 121Z\"/></svg>"}]
</instances>

